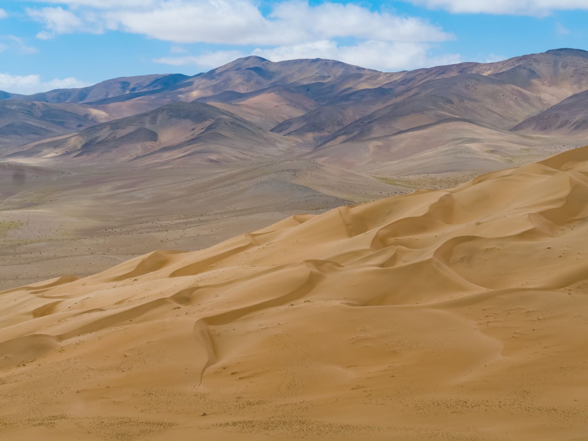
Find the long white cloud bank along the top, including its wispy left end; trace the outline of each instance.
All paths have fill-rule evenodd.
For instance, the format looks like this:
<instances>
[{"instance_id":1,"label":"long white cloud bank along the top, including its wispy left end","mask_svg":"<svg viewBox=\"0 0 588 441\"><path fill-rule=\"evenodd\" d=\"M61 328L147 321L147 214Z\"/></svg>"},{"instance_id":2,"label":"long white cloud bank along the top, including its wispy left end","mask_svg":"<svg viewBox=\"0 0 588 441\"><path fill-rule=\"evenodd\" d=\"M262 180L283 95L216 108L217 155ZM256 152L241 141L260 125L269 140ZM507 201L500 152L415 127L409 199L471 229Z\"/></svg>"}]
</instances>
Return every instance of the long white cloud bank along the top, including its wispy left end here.
<instances>
[{"instance_id":1,"label":"long white cloud bank along the top, including its wispy left end","mask_svg":"<svg viewBox=\"0 0 588 441\"><path fill-rule=\"evenodd\" d=\"M49 0L51 2L51 0ZM54 2L58 2L55 0ZM453 38L418 17L370 11L354 4L286 1L264 16L254 0L64 0L27 8L45 25L39 38L71 32L122 29L176 43L278 45L324 38L445 41Z\"/></svg>"}]
</instances>

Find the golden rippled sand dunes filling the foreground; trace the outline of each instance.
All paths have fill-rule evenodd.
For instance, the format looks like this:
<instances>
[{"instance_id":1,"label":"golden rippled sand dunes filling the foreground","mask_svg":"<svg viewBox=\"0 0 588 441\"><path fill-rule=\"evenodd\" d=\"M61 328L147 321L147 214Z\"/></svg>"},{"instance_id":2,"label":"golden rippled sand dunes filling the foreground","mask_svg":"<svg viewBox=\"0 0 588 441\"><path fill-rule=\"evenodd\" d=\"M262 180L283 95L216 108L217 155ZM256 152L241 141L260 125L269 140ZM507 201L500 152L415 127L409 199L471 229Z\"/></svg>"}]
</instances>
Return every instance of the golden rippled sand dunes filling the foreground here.
<instances>
[{"instance_id":1,"label":"golden rippled sand dunes filling the foreground","mask_svg":"<svg viewBox=\"0 0 588 441\"><path fill-rule=\"evenodd\" d=\"M2 439L588 436L588 147L0 293Z\"/></svg>"}]
</instances>

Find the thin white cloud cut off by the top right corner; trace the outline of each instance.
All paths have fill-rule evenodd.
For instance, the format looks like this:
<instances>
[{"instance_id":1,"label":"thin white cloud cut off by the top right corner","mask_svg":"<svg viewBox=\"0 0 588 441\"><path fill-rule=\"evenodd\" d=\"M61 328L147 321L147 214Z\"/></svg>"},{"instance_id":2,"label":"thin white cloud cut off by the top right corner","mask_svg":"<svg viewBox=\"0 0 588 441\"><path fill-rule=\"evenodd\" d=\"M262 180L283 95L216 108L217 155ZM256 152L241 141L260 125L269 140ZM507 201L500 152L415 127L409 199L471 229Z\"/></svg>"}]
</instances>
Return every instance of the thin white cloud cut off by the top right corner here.
<instances>
[{"instance_id":1,"label":"thin white cloud cut off by the top right corner","mask_svg":"<svg viewBox=\"0 0 588 441\"><path fill-rule=\"evenodd\" d=\"M549 15L552 11L588 9L586 0L408 0L431 9L457 14Z\"/></svg>"}]
</instances>

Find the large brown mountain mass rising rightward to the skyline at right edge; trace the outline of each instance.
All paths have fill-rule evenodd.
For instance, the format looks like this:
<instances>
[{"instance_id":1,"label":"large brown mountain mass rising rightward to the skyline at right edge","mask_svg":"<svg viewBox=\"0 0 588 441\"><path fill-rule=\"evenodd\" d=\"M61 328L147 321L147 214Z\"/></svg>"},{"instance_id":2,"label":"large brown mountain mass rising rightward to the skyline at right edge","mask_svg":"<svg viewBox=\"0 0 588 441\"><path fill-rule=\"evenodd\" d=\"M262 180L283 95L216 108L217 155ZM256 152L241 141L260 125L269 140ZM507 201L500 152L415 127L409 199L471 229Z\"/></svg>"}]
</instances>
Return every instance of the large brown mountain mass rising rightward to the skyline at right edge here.
<instances>
[{"instance_id":1,"label":"large brown mountain mass rising rightward to the skyline at right edge","mask_svg":"<svg viewBox=\"0 0 588 441\"><path fill-rule=\"evenodd\" d=\"M509 129L556 100L588 88L587 73L588 52L576 49L399 72L399 78L381 82L380 87L335 95L272 131L322 146L368 142L446 118ZM390 74L382 73L379 80L386 75Z\"/></svg>"}]
</instances>

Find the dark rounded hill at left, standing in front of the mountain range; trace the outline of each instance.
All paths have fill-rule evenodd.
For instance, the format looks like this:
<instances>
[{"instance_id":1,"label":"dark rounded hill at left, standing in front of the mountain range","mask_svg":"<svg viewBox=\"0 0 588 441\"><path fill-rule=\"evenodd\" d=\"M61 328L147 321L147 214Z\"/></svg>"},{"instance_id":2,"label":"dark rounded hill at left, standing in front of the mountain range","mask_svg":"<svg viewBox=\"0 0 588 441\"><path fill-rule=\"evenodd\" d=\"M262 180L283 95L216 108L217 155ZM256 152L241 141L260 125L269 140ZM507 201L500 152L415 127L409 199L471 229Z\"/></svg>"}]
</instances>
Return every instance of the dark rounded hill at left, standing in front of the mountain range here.
<instances>
[{"instance_id":1,"label":"dark rounded hill at left, standing in front of the mountain range","mask_svg":"<svg viewBox=\"0 0 588 441\"><path fill-rule=\"evenodd\" d=\"M176 102L78 134L22 145L9 157L93 164L230 163L270 157L291 146L288 140L212 105Z\"/></svg>"}]
</instances>

